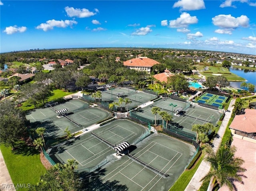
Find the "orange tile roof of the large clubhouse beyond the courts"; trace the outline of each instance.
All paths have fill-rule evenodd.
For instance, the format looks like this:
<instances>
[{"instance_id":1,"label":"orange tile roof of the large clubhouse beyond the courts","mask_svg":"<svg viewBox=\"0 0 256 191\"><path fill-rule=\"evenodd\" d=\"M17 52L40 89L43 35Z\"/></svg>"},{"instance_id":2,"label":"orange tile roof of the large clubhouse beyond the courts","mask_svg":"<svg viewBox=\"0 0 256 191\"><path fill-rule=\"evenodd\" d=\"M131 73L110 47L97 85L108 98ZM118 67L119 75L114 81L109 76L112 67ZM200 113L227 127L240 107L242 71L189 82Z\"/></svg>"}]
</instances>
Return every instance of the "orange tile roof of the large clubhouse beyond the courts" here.
<instances>
[{"instance_id":1,"label":"orange tile roof of the large clubhouse beyond the courts","mask_svg":"<svg viewBox=\"0 0 256 191\"><path fill-rule=\"evenodd\" d=\"M125 66L152 67L156 64L160 64L160 63L148 57L137 57L137 58L124 61Z\"/></svg>"}]
</instances>

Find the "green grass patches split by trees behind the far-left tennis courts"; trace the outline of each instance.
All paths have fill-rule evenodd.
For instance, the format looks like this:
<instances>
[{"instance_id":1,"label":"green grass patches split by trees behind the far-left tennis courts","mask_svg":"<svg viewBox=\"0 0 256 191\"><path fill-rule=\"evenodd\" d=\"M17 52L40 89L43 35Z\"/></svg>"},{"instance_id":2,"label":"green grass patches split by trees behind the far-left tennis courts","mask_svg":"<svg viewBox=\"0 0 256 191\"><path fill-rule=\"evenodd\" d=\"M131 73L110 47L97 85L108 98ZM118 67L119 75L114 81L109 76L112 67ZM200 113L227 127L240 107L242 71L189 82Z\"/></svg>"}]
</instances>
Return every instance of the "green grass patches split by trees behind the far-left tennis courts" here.
<instances>
[{"instance_id":1,"label":"green grass patches split by trees behind the far-left tennis courts","mask_svg":"<svg viewBox=\"0 0 256 191\"><path fill-rule=\"evenodd\" d=\"M73 93L75 93L75 92L65 92L65 91L59 90L59 89L54 90L54 91L52 92L52 96L50 96L50 97L47 99L47 102L52 101L52 100L56 100L56 99L58 99L58 98L62 98L62 97L64 97L64 96L66 96L66 95L70 95L70 94L73 94ZM37 107L40 107L40 106L42 106L42 103L36 104L36 106L37 106ZM21 106L20 108L21 108L22 110L26 111L26 110L33 109L34 107L35 107L34 104L32 104L32 103L30 103L30 102L28 102L28 101L25 101L25 102L22 103L22 106Z\"/></svg>"}]
</instances>

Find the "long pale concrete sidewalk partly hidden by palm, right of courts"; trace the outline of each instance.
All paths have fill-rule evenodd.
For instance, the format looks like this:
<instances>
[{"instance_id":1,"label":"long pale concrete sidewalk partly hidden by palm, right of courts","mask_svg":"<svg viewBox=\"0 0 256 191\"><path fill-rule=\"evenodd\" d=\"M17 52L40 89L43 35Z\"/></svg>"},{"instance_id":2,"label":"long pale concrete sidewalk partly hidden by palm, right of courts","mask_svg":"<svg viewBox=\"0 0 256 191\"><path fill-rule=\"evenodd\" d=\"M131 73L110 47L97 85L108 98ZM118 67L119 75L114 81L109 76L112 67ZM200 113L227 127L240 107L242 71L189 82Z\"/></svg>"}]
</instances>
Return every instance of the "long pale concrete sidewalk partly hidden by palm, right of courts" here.
<instances>
[{"instance_id":1,"label":"long pale concrete sidewalk partly hidden by palm, right of courts","mask_svg":"<svg viewBox=\"0 0 256 191\"><path fill-rule=\"evenodd\" d=\"M235 102L236 102L236 99L231 100L231 102L228 106L228 110L230 112L225 113L225 117L224 117L222 124L220 126L220 129L218 131L219 137L214 138L213 145L214 145L215 152L216 152L216 150L218 150L218 148L221 144L222 137L226 131L226 127L228 126L228 122L230 120L232 110L234 108L234 106L232 106L232 105L234 105ZM188 183L188 186L186 187L185 191L198 191L202 185L202 182L200 182L200 180L208 173L209 170L210 170L210 164L206 161L202 161L202 163L198 167L196 173L194 174L194 176Z\"/></svg>"}]
</instances>

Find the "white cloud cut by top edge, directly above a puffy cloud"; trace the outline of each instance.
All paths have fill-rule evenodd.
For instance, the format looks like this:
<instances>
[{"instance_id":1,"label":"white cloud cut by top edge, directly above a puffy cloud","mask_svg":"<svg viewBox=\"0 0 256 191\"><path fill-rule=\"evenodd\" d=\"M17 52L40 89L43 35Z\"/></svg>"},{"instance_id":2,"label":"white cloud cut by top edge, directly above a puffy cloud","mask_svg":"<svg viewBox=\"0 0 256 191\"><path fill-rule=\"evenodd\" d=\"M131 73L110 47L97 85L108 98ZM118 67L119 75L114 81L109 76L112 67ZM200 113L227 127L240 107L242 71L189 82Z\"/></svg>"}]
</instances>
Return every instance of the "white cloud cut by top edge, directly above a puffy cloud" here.
<instances>
[{"instance_id":1,"label":"white cloud cut by top edge, directly above a puffy cloud","mask_svg":"<svg viewBox=\"0 0 256 191\"><path fill-rule=\"evenodd\" d=\"M179 0L173 5L173 8L176 7L181 7L180 10L185 11L205 9L204 0Z\"/></svg>"}]
</instances>

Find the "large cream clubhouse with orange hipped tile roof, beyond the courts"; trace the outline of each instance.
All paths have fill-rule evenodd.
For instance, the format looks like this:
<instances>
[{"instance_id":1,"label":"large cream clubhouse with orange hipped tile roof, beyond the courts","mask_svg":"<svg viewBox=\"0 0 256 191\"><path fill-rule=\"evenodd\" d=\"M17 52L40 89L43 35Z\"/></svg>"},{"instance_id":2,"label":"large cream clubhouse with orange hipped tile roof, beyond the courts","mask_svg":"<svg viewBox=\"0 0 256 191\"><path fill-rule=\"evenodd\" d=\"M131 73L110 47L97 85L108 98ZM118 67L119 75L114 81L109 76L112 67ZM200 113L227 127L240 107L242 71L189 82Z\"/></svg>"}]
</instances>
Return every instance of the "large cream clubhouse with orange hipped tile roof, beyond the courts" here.
<instances>
[{"instance_id":1,"label":"large cream clubhouse with orange hipped tile roof, beyond the courts","mask_svg":"<svg viewBox=\"0 0 256 191\"><path fill-rule=\"evenodd\" d=\"M148 57L136 57L127 61L124 61L124 65L130 69L146 71L150 73L151 67L160 64L158 61L150 59Z\"/></svg>"}]
</instances>

